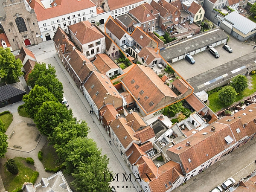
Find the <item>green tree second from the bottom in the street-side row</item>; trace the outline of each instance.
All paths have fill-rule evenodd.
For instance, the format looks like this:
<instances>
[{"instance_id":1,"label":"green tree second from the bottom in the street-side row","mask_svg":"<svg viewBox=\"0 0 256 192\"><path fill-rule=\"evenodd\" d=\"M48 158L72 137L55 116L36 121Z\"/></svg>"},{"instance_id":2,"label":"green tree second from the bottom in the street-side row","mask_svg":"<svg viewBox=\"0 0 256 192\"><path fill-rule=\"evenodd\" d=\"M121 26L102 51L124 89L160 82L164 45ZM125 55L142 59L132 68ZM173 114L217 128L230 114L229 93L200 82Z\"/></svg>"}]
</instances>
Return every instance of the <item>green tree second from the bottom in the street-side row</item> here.
<instances>
[{"instance_id":1,"label":"green tree second from the bottom in the street-side row","mask_svg":"<svg viewBox=\"0 0 256 192\"><path fill-rule=\"evenodd\" d=\"M56 150L60 162L66 167L64 170L67 174L72 174L76 167L81 163L89 163L89 157L95 155L100 156L101 150L97 148L97 144L87 137L77 137L70 140L67 145Z\"/></svg>"}]
</instances>

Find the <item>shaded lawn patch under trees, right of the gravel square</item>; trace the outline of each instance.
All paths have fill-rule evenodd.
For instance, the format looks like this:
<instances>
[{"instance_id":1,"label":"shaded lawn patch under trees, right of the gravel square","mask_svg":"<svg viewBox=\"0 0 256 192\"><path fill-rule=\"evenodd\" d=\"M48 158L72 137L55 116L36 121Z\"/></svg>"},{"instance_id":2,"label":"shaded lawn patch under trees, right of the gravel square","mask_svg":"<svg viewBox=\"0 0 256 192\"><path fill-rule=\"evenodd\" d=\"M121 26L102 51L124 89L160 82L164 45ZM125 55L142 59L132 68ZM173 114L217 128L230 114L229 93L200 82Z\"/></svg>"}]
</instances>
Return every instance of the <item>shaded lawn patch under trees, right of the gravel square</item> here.
<instances>
[{"instance_id":1,"label":"shaded lawn patch under trees, right of the gravel square","mask_svg":"<svg viewBox=\"0 0 256 192\"><path fill-rule=\"evenodd\" d=\"M60 165L60 163L56 164L58 155L55 152L55 148L53 148L52 145L48 145L48 142L45 143L41 151L43 152L43 160L41 160L41 162L43 163L44 168L54 169L56 166Z\"/></svg>"}]
</instances>

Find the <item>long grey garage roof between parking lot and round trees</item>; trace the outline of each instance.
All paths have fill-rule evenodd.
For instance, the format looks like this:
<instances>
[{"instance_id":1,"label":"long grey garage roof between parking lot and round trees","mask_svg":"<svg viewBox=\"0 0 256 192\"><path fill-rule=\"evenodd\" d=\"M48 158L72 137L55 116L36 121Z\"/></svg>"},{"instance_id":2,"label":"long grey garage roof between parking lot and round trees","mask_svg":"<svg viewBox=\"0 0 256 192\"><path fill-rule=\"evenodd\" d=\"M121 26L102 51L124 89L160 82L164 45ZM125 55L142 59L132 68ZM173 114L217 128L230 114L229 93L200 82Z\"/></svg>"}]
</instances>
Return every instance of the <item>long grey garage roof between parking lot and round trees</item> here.
<instances>
[{"instance_id":1,"label":"long grey garage roof between parking lot and round trees","mask_svg":"<svg viewBox=\"0 0 256 192\"><path fill-rule=\"evenodd\" d=\"M225 79L246 73L247 70L256 67L256 55L249 53L221 66L215 67L186 81L194 88L194 93L206 90Z\"/></svg>"}]
</instances>

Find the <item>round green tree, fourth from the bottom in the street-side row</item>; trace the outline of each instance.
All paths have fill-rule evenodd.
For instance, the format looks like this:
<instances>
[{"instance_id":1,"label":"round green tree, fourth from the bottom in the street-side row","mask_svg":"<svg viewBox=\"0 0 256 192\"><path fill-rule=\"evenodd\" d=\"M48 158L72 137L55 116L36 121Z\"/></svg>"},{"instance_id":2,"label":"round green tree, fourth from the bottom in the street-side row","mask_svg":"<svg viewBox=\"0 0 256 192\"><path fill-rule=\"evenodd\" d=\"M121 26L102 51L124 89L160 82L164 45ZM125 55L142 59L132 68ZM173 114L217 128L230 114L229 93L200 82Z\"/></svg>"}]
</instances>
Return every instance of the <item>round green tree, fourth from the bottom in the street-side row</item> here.
<instances>
[{"instance_id":1,"label":"round green tree, fourth from the bottom in the street-side row","mask_svg":"<svg viewBox=\"0 0 256 192\"><path fill-rule=\"evenodd\" d=\"M34 121L39 131L49 136L53 128L57 127L58 123L64 122L64 119L68 121L73 119L72 110L59 102L48 101L41 105Z\"/></svg>"}]
</instances>

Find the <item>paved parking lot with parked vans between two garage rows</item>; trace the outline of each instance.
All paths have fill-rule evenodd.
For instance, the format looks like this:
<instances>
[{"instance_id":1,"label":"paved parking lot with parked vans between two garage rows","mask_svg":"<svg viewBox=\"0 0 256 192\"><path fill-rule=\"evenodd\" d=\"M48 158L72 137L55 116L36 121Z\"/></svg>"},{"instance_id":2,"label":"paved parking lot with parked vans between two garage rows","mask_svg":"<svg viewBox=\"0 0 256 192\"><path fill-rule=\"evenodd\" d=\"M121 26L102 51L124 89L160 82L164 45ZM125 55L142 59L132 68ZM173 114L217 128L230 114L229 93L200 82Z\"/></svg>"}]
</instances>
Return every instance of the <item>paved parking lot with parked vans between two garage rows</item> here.
<instances>
[{"instance_id":1,"label":"paved parking lot with parked vans between two garage rows","mask_svg":"<svg viewBox=\"0 0 256 192\"><path fill-rule=\"evenodd\" d=\"M228 34L229 35L229 34ZM195 59L195 64L190 64L186 60L180 60L175 63L171 63L172 67L180 74L184 79L190 79L215 67L218 67L224 63L232 61L250 52L254 52L255 40L247 43L241 42L229 35L228 45L233 49L233 53L229 53L222 48L222 45L214 47L220 54L220 58L215 58L208 50L200 52L196 55L192 55Z\"/></svg>"}]
</instances>

